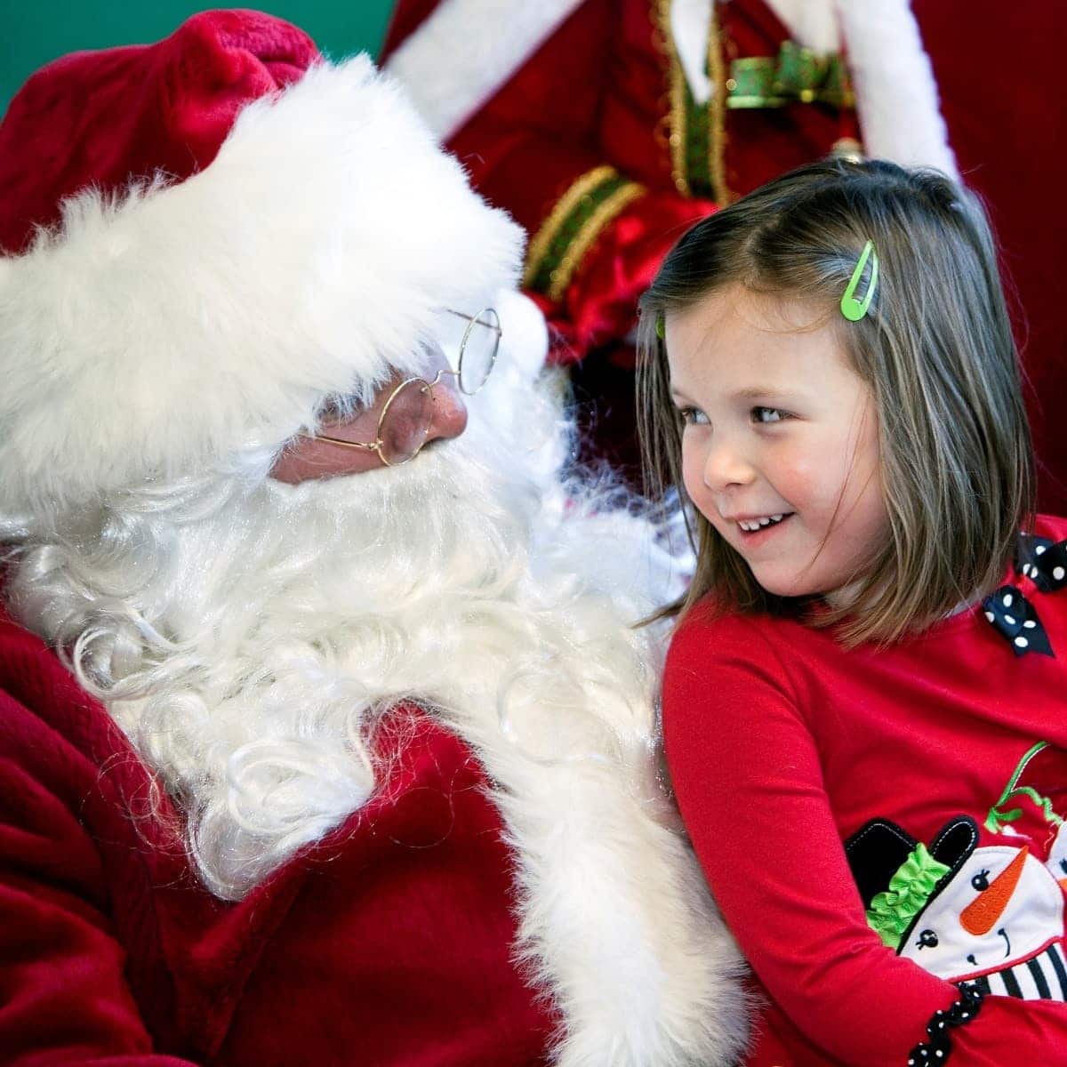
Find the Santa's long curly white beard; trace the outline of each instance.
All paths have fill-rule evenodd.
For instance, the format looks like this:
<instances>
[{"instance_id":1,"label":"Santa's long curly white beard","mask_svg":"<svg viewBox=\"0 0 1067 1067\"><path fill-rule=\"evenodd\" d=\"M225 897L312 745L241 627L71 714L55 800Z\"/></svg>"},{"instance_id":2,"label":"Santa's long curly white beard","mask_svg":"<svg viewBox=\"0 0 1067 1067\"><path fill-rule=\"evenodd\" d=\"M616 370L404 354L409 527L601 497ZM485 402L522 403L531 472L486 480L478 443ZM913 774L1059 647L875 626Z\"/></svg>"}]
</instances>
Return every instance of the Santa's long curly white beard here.
<instances>
[{"instance_id":1,"label":"Santa's long curly white beard","mask_svg":"<svg viewBox=\"0 0 1067 1067\"><path fill-rule=\"evenodd\" d=\"M218 895L367 801L368 738L407 700L516 758L649 766L653 652L628 625L652 531L563 492L555 410L529 400L511 436L487 420L399 468L131 498L26 554L17 614L181 801Z\"/></svg>"}]
</instances>

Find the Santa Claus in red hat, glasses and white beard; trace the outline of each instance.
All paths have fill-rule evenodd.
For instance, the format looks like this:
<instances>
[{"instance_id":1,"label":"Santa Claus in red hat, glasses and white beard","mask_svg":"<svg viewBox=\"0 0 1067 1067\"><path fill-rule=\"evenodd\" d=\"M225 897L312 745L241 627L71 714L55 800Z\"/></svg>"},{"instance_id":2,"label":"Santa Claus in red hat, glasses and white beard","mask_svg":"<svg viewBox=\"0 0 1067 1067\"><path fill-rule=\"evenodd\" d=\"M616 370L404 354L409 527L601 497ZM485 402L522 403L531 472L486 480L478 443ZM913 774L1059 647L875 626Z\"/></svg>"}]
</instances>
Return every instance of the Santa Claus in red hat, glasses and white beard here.
<instances>
[{"instance_id":1,"label":"Santa Claus in red hat, glasses and white beard","mask_svg":"<svg viewBox=\"0 0 1067 1067\"><path fill-rule=\"evenodd\" d=\"M66 57L0 244L4 1062L730 1063L668 561L397 89L246 11Z\"/></svg>"}]
</instances>

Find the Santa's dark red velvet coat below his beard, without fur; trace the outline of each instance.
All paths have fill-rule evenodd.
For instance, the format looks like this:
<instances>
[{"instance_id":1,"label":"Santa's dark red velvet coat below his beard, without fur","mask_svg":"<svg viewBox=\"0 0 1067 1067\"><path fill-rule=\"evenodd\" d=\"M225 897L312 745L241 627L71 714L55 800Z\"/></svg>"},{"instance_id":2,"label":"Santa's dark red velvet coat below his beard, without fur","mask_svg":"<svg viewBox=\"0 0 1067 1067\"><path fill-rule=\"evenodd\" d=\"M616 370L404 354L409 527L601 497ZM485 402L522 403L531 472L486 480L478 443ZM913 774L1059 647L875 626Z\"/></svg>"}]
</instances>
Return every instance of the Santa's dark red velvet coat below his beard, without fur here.
<instances>
[{"instance_id":1,"label":"Santa's dark red velvet coat below his beard, without fur","mask_svg":"<svg viewBox=\"0 0 1067 1067\"><path fill-rule=\"evenodd\" d=\"M540 1067L513 859L469 748L417 710L357 814L237 904L107 713L0 621L5 1065Z\"/></svg>"}]
</instances>

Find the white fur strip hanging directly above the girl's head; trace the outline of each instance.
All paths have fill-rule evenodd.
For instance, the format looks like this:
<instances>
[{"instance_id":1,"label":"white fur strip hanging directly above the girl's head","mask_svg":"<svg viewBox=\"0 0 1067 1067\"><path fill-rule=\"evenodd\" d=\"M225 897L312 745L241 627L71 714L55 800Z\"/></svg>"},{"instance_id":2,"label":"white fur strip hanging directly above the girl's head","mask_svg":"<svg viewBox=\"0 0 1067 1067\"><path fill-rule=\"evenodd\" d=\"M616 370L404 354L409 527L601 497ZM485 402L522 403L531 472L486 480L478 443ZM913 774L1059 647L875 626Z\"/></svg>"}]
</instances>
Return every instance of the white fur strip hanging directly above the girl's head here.
<instances>
[{"instance_id":1,"label":"white fur strip hanging directly above the girl's head","mask_svg":"<svg viewBox=\"0 0 1067 1067\"><path fill-rule=\"evenodd\" d=\"M958 178L937 83L908 0L838 0L869 156Z\"/></svg>"}]
</instances>

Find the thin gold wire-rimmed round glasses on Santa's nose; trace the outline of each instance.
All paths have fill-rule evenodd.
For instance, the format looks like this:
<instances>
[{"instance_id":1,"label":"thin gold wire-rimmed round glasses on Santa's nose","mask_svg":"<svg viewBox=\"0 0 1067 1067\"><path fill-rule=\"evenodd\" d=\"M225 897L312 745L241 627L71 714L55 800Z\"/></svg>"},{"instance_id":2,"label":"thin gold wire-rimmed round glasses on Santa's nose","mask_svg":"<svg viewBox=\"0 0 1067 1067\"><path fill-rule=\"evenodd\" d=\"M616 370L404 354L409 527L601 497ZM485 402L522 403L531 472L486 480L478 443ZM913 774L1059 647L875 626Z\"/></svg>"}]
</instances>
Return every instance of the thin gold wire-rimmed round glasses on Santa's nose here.
<instances>
[{"instance_id":1,"label":"thin gold wire-rimmed round glasses on Santa's nose","mask_svg":"<svg viewBox=\"0 0 1067 1067\"><path fill-rule=\"evenodd\" d=\"M460 393L474 396L489 381L500 349L500 318L492 307L483 307L477 315L448 312L467 320L460 341L456 370L439 370L432 382L424 378L405 378L388 396L378 416L373 441L345 441L324 433L305 436L327 441L344 448L357 448L377 452L386 466L400 466L414 459L426 444L433 419L433 387L445 375L456 378Z\"/></svg>"}]
</instances>

